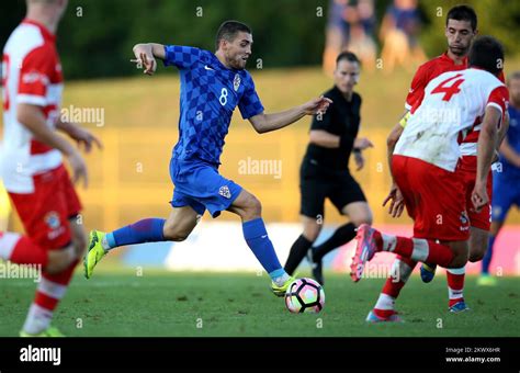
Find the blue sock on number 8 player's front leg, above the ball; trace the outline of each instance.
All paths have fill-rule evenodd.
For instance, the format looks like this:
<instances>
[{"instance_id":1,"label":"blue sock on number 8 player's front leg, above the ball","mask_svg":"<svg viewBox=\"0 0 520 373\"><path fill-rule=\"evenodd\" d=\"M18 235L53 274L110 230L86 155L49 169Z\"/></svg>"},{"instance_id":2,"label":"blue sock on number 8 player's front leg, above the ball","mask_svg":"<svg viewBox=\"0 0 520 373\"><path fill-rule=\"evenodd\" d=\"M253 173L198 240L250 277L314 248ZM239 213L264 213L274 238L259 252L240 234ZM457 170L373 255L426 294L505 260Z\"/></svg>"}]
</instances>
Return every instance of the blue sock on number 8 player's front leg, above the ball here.
<instances>
[{"instance_id":1,"label":"blue sock on number 8 player's front leg, above the ball","mask_svg":"<svg viewBox=\"0 0 520 373\"><path fill-rule=\"evenodd\" d=\"M268 237L262 218L242 223L242 230L247 245L271 279L274 280L285 274L276 252L274 252L273 244Z\"/></svg>"}]
</instances>

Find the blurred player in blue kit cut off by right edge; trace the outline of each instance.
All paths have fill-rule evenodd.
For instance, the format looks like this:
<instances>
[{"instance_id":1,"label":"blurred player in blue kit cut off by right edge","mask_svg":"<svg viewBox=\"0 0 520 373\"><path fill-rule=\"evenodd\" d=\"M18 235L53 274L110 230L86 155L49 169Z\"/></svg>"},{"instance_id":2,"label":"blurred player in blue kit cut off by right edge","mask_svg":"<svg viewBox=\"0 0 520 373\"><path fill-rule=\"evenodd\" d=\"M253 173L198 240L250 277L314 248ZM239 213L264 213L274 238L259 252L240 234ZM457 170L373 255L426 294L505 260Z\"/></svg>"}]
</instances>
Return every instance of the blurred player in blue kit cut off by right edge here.
<instances>
[{"instance_id":1,"label":"blurred player in blue kit cut off by right edge","mask_svg":"<svg viewBox=\"0 0 520 373\"><path fill-rule=\"evenodd\" d=\"M504 226L512 205L520 206L520 71L512 72L508 80L509 129L500 145L500 168L493 172L491 227L489 246L482 260L478 285L495 285L496 278L489 274L495 238Z\"/></svg>"}]
</instances>

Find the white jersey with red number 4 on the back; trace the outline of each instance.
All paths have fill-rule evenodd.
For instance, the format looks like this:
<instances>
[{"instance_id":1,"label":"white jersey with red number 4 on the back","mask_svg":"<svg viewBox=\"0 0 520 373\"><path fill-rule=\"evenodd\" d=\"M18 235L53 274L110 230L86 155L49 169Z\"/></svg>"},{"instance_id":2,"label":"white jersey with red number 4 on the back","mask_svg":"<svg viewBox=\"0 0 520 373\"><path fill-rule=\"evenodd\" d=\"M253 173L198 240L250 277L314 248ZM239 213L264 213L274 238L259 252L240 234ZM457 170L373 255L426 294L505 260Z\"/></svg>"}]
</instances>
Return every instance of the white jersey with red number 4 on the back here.
<instances>
[{"instance_id":1,"label":"white jersey with red number 4 on the back","mask_svg":"<svg viewBox=\"0 0 520 373\"><path fill-rule=\"evenodd\" d=\"M394 154L454 171L465 134L482 122L488 105L504 116L508 99L506 86L490 72L444 72L427 84L422 101L411 109Z\"/></svg>"}]
</instances>

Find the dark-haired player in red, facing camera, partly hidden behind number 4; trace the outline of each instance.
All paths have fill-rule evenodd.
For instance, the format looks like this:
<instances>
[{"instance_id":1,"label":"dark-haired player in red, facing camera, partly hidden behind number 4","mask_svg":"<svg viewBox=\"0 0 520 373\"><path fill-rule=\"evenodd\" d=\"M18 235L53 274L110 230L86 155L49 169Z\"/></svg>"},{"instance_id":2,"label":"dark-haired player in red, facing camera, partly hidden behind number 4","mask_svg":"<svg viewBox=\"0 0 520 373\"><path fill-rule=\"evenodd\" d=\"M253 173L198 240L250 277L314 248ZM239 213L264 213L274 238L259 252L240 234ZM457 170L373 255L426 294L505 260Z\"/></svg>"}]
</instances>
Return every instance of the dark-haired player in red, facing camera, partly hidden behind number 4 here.
<instances>
[{"instance_id":1,"label":"dark-haired player in red, facing camera, partly hidden behind number 4","mask_svg":"<svg viewBox=\"0 0 520 373\"><path fill-rule=\"evenodd\" d=\"M446 71L459 71L467 68L467 53L470 50L471 43L477 34L477 16L474 10L467 5L453 7L446 14L446 27L445 36L448 39L448 50L439 57L431 59L419 67L414 79L411 87L406 98L405 113L403 120L392 129L388 136L388 159L392 163L392 155L394 147L399 139L403 129L406 125L407 118L409 117L409 110L417 102L420 102L423 98L426 86L439 75ZM500 74L500 79L504 81L504 75ZM478 129L478 128L477 128ZM504 137L507 129L507 120L505 125L499 132L499 137ZM489 211L486 206L479 213L473 210L471 203L471 192L473 190L476 177L476 162L471 159L476 159L476 152L473 157L466 157L464 152L465 143L478 138L478 132L472 132L471 136L466 136L461 144L461 151L463 157L462 172L465 174L466 185L466 205L468 210L468 217L471 222L471 237L470 237L470 260L481 260L487 249L487 236L489 230ZM470 167L473 166L473 167ZM490 172L489 172L490 174ZM488 185L488 192L491 193L491 188ZM490 194L489 194L490 199ZM391 193L385 200L384 204L391 201L389 213L395 216L400 216L404 205L400 191L393 185ZM487 222L487 224L486 224ZM415 261L406 260L397 256L394 263L394 269L399 270L399 281L394 281L393 278L388 278L383 291L380 295L380 299L375 306L375 309L382 307L383 309L393 309L395 298L399 295L399 292L410 273L416 267ZM429 269L429 270L428 270ZM429 282L433 279L434 267L430 268L427 264L421 267L421 278L425 282ZM451 310L463 310L465 309L465 303L463 298L465 270L460 269L448 269L446 281L449 289L449 307ZM462 306L462 307L461 307Z\"/></svg>"}]
</instances>

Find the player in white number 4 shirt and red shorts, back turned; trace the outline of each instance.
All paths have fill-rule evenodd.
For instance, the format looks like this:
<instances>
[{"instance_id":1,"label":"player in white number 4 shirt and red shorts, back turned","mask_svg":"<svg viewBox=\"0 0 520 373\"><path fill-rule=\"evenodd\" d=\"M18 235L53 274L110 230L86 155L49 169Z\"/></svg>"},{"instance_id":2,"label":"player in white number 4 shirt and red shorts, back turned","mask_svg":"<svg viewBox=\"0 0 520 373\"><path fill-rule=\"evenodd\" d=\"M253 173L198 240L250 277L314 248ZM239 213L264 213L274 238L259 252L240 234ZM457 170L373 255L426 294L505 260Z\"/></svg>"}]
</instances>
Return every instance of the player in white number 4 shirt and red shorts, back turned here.
<instances>
[{"instance_id":1,"label":"player in white number 4 shirt and red shorts, back turned","mask_svg":"<svg viewBox=\"0 0 520 373\"><path fill-rule=\"evenodd\" d=\"M478 38L472 45L468 65L466 70L444 72L427 84L422 100L410 111L392 157L396 187L414 219L414 238L387 235L362 225L352 260L354 281L361 279L365 262L378 251L448 269L459 269L467 262L470 221L466 182L460 172L460 144L464 132L482 122L471 193L471 202L479 213L489 203L487 177L508 101L507 88L498 79L504 65L500 43L490 36ZM395 298L380 296L366 320L399 320L394 302Z\"/></svg>"}]
</instances>

